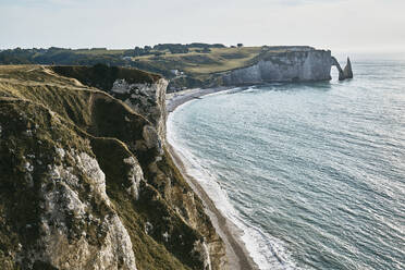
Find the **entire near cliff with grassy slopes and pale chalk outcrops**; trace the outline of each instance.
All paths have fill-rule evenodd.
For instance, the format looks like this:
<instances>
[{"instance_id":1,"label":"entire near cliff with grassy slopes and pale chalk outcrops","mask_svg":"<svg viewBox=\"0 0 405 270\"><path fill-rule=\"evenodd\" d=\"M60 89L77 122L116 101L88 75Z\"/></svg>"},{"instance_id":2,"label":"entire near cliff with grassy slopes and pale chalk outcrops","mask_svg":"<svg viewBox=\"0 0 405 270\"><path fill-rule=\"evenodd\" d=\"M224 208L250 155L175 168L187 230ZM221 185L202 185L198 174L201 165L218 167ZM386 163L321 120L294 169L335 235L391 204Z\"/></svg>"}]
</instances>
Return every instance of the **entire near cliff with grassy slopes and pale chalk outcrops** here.
<instances>
[{"instance_id":1,"label":"entire near cliff with grassy slopes and pale chalk outcrops","mask_svg":"<svg viewBox=\"0 0 405 270\"><path fill-rule=\"evenodd\" d=\"M0 66L0 269L224 269L165 150L167 82Z\"/></svg>"}]
</instances>

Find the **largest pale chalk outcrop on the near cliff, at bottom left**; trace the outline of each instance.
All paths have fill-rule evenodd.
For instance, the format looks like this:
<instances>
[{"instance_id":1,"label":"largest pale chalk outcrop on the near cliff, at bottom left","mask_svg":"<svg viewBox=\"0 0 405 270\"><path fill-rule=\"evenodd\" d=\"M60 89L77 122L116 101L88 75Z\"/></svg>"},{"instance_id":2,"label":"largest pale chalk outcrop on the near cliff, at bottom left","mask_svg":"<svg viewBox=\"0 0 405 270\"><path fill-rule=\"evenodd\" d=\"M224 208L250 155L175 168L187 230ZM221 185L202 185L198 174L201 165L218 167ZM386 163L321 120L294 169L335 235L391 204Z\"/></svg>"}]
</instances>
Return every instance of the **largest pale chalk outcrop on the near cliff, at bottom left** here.
<instances>
[{"instance_id":1,"label":"largest pale chalk outcrop on the near cliff, at bottom left","mask_svg":"<svg viewBox=\"0 0 405 270\"><path fill-rule=\"evenodd\" d=\"M60 155L61 149L58 150ZM105 174L97 160L86 152L69 154L76 160L77 170L63 165L50 168L49 184L42 184L44 210L40 220L41 236L37 241L38 250L24 250L19 258L45 261L58 269L136 269L135 256L130 235L106 195ZM109 210L106 216L93 212L90 201L83 200L85 176L95 187L86 196L95 197L99 205ZM93 228L93 229L90 229ZM97 232L96 235L89 233ZM95 238L96 237L96 238ZM27 265L25 261L24 265Z\"/></svg>"}]
</instances>

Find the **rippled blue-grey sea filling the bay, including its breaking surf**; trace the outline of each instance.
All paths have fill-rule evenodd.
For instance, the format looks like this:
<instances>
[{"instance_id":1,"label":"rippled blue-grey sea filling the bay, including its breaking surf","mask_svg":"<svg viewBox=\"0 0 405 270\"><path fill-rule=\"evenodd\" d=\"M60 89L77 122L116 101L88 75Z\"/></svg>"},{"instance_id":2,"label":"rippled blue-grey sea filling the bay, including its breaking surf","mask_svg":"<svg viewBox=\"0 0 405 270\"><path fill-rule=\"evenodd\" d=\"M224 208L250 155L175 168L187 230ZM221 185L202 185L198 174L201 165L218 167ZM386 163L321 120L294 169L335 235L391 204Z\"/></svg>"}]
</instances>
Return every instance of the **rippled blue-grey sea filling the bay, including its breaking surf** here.
<instances>
[{"instance_id":1,"label":"rippled blue-grey sea filling the bay, including its breaking surf","mask_svg":"<svg viewBox=\"0 0 405 270\"><path fill-rule=\"evenodd\" d=\"M260 269L405 269L405 61L235 88L169 116L169 142Z\"/></svg>"}]
</instances>

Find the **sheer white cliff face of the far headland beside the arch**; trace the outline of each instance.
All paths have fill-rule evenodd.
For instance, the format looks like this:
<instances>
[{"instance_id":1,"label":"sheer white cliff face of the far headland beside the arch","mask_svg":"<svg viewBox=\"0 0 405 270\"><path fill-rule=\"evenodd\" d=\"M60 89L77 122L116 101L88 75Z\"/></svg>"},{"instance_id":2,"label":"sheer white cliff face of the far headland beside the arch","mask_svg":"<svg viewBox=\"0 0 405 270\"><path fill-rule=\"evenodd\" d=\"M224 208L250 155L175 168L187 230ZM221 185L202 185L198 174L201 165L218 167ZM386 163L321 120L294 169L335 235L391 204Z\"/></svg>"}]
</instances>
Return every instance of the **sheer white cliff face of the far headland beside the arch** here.
<instances>
[{"instance_id":1,"label":"sheer white cliff face of the far headland beside the arch","mask_svg":"<svg viewBox=\"0 0 405 270\"><path fill-rule=\"evenodd\" d=\"M331 51L290 50L261 53L250 66L222 74L224 85L250 85L271 82L308 82L331 78Z\"/></svg>"}]
</instances>

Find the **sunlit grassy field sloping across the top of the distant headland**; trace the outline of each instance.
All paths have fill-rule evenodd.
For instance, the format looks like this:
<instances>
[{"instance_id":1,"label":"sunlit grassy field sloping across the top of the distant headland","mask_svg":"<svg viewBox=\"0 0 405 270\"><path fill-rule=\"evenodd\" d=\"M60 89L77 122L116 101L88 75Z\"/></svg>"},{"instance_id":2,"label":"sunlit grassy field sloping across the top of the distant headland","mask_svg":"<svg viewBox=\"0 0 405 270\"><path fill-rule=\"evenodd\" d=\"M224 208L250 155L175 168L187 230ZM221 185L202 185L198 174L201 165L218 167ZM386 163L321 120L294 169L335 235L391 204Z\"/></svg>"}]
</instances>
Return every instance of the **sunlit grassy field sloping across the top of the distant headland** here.
<instances>
[{"instance_id":1,"label":"sunlit grassy field sloping across the top of the distant headland","mask_svg":"<svg viewBox=\"0 0 405 270\"><path fill-rule=\"evenodd\" d=\"M216 87L223 84L221 73L250 66L286 51L280 47L211 48L207 53L192 49L188 53L132 58L132 64L171 78L170 88ZM170 70L183 71L186 76L175 77Z\"/></svg>"}]
</instances>

